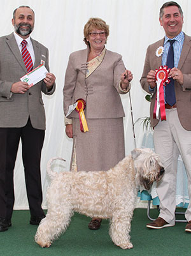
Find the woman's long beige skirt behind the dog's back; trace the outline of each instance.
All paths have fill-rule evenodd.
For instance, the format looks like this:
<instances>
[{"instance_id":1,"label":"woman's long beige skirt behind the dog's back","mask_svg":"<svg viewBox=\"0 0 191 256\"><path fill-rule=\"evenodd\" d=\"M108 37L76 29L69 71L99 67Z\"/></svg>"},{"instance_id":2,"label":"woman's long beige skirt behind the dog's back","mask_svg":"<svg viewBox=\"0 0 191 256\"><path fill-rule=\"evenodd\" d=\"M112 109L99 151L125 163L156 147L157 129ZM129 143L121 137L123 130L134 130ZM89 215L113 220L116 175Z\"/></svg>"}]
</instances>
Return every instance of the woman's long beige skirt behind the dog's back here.
<instances>
[{"instance_id":1,"label":"woman's long beige skirt behind the dog's back","mask_svg":"<svg viewBox=\"0 0 191 256\"><path fill-rule=\"evenodd\" d=\"M71 170L108 170L125 157L123 117L87 119L88 132L81 132L73 118Z\"/></svg>"}]
</instances>

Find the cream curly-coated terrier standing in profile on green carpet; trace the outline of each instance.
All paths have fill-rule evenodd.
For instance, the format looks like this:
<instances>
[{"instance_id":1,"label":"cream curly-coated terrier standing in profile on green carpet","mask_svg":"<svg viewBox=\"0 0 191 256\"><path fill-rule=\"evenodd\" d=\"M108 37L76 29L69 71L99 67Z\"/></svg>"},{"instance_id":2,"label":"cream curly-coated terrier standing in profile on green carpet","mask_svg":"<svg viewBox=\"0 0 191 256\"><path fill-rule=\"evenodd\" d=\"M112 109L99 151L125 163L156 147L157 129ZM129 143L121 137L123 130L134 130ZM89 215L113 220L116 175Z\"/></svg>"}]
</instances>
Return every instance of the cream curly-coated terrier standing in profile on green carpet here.
<instances>
[{"instance_id":1,"label":"cream curly-coated terrier standing in profile on green carpet","mask_svg":"<svg viewBox=\"0 0 191 256\"><path fill-rule=\"evenodd\" d=\"M149 190L160 181L164 169L150 149L134 149L110 170L98 172L47 172L52 183L47 191L48 211L41 220L35 241L49 247L62 234L74 211L90 217L110 219L110 236L115 245L132 248L131 219L138 189Z\"/></svg>"}]
</instances>

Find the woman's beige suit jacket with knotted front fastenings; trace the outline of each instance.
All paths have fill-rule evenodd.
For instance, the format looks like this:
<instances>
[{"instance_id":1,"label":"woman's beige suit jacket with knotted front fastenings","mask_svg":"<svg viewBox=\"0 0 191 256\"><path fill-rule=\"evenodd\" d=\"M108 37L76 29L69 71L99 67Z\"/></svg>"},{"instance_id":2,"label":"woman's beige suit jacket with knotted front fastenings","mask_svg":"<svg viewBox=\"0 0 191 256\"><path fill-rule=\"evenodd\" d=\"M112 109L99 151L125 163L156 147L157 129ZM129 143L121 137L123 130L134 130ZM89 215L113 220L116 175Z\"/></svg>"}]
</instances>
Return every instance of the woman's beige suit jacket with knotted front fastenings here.
<instances>
[{"instance_id":1,"label":"woman's beige suit jacket with knotted front fastenings","mask_svg":"<svg viewBox=\"0 0 191 256\"><path fill-rule=\"evenodd\" d=\"M102 63L85 79L85 64L88 49L73 52L69 56L64 84L64 113L69 105L79 98L87 102L85 116L89 119L124 117L124 109L119 93L119 82L125 71L122 56L110 50ZM78 117L74 110L69 117Z\"/></svg>"}]
</instances>

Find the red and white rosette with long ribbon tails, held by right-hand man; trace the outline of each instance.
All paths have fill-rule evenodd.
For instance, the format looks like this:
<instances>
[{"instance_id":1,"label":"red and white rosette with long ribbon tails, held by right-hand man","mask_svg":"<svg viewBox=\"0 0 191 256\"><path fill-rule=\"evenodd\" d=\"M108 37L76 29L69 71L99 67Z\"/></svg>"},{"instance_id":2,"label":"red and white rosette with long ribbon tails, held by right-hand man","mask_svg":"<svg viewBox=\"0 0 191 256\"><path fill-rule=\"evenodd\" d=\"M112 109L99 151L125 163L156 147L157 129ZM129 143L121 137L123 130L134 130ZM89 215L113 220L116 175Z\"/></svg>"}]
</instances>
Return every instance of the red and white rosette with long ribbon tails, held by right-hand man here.
<instances>
[{"instance_id":1,"label":"red and white rosette with long ribbon tails, held by right-hand man","mask_svg":"<svg viewBox=\"0 0 191 256\"><path fill-rule=\"evenodd\" d=\"M161 120L166 120L166 111L165 111L165 103L164 103L164 87L166 84L169 84L170 80L169 71L170 68L167 69L167 66L160 66L159 70L155 70L155 79L157 83L157 93L156 93L156 100L155 100L155 107L153 112L153 117L155 119L159 119L159 110L160 110L160 117Z\"/></svg>"}]
</instances>

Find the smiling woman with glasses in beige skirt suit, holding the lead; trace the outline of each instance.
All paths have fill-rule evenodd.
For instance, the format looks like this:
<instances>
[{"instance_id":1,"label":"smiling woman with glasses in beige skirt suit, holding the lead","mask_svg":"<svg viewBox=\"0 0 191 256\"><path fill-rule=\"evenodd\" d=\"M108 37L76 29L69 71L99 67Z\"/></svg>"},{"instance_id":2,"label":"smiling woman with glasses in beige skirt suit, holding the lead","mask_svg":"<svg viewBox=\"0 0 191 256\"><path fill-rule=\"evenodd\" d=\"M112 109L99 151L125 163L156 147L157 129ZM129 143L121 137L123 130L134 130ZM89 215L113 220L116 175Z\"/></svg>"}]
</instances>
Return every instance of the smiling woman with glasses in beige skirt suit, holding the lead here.
<instances>
[{"instance_id":1,"label":"smiling woman with glasses in beige skirt suit, holding the lead","mask_svg":"<svg viewBox=\"0 0 191 256\"><path fill-rule=\"evenodd\" d=\"M63 90L65 116L70 105L80 102L66 118L66 134L73 138L71 170L108 170L125 157L119 94L128 93L132 73L125 70L120 54L105 48L109 26L104 20L89 19L83 33L87 49L69 56ZM92 218L88 227L100 225L101 219Z\"/></svg>"}]
</instances>

